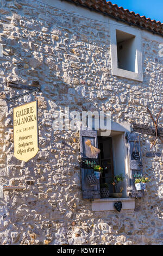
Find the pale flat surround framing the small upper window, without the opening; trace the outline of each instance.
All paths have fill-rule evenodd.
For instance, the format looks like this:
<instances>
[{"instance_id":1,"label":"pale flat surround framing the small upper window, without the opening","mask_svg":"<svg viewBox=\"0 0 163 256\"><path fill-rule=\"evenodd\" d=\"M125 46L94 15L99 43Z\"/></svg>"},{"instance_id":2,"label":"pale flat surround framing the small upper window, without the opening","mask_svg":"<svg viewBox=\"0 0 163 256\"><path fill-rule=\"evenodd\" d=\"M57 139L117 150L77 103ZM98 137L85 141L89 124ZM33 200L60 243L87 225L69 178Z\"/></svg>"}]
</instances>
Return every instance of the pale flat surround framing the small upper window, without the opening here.
<instances>
[{"instance_id":1,"label":"pale flat surround framing the small upper window, without the opening","mask_svg":"<svg viewBox=\"0 0 163 256\"><path fill-rule=\"evenodd\" d=\"M110 47L111 47L112 75L143 82L142 48L141 48L142 36L141 36L140 29L129 27L127 25L124 25L124 23L120 25L120 23L117 23L115 21L111 21L110 23L111 23L110 24ZM128 70L118 68L116 30L135 36L135 45L136 45L136 64L135 65L137 68L137 72L131 72Z\"/></svg>"}]
</instances>

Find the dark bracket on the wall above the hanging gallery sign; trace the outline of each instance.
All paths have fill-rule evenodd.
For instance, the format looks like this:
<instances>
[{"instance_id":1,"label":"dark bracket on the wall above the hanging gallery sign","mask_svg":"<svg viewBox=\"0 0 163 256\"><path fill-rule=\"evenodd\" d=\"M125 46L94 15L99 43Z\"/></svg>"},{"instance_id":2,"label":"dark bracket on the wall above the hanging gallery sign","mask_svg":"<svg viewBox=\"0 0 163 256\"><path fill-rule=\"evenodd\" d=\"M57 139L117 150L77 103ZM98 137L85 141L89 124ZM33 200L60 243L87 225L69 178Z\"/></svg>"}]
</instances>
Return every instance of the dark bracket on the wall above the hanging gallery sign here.
<instances>
[{"instance_id":1,"label":"dark bracket on the wall above the hanging gallery sign","mask_svg":"<svg viewBox=\"0 0 163 256\"><path fill-rule=\"evenodd\" d=\"M17 100L20 97L23 97L24 95L39 92L39 90L40 90L40 86L37 86L37 87L25 86L24 84L15 84L15 83L10 83L10 82L7 83L7 86L11 87L11 88L16 88L16 89L28 90L28 92L26 92L26 93L11 97L10 99L6 99L7 102L12 101L12 100Z\"/></svg>"}]
</instances>

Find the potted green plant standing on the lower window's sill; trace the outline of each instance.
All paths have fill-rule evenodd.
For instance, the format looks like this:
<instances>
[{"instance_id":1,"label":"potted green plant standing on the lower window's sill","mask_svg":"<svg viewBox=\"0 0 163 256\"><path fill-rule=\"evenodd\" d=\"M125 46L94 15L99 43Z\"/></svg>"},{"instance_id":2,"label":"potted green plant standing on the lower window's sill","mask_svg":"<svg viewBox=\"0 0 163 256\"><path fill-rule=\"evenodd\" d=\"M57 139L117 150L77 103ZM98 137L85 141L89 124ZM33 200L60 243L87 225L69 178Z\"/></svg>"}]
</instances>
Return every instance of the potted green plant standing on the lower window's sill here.
<instances>
[{"instance_id":1,"label":"potted green plant standing on the lower window's sill","mask_svg":"<svg viewBox=\"0 0 163 256\"><path fill-rule=\"evenodd\" d=\"M110 197L113 197L113 198L122 197L123 187L120 188L120 192L117 192L117 185L119 182L123 180L124 180L123 174L118 174L113 176L113 179L111 180L111 184L113 185L113 193L110 193Z\"/></svg>"}]
</instances>

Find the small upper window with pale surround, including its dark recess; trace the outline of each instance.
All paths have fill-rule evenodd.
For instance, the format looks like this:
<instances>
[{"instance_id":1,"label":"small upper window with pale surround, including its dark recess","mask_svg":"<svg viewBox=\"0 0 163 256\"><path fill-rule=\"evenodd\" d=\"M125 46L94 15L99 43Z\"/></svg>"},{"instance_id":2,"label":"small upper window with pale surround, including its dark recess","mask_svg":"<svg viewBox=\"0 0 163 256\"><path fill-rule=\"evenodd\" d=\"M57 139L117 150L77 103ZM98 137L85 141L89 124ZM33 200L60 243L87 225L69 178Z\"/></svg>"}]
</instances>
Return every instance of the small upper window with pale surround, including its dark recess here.
<instances>
[{"instance_id":1,"label":"small upper window with pale surround, including its dark recess","mask_svg":"<svg viewBox=\"0 0 163 256\"><path fill-rule=\"evenodd\" d=\"M110 25L112 75L143 81L141 32L127 25Z\"/></svg>"}]
</instances>

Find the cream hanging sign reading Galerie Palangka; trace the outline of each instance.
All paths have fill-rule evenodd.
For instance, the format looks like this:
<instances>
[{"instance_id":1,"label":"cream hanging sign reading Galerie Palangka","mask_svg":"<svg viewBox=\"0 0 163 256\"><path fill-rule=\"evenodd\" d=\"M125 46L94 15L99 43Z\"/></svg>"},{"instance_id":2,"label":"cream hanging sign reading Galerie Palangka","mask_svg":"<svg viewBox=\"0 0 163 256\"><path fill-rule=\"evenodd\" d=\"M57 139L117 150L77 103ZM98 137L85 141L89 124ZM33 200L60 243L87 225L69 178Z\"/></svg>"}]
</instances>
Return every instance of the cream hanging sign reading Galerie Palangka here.
<instances>
[{"instance_id":1,"label":"cream hanging sign reading Galerie Palangka","mask_svg":"<svg viewBox=\"0 0 163 256\"><path fill-rule=\"evenodd\" d=\"M14 108L14 155L27 162L39 151L37 101Z\"/></svg>"}]
</instances>

